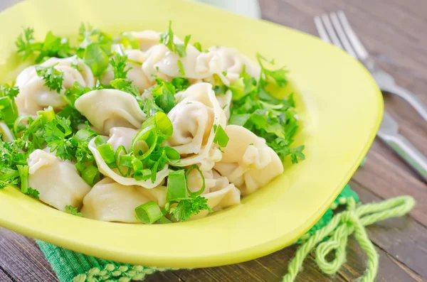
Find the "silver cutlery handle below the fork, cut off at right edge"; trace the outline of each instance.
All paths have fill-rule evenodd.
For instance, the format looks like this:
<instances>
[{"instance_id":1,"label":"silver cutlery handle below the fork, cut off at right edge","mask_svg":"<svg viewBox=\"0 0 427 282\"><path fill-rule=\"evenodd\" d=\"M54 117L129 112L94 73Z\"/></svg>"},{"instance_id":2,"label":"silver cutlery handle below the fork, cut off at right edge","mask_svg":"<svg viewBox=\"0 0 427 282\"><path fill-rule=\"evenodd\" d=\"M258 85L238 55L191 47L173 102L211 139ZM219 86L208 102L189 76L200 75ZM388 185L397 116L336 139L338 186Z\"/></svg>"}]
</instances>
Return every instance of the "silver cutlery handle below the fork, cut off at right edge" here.
<instances>
[{"instance_id":1,"label":"silver cutlery handle below the fork, cut off at right edge","mask_svg":"<svg viewBox=\"0 0 427 282\"><path fill-rule=\"evenodd\" d=\"M378 134L391 149L401 156L427 182L427 158L401 134Z\"/></svg>"}]
</instances>

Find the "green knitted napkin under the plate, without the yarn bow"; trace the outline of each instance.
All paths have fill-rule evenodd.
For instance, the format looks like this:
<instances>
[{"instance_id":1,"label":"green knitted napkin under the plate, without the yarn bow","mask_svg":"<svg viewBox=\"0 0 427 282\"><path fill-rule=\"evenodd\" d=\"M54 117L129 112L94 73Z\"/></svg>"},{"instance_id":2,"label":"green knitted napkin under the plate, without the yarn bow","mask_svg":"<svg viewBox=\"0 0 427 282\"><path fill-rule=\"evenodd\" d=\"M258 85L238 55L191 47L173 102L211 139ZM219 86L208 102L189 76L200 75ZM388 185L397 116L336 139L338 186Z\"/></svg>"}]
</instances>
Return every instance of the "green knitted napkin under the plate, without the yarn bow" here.
<instances>
[{"instance_id":1,"label":"green knitted napkin under the plate, without the yarn bow","mask_svg":"<svg viewBox=\"0 0 427 282\"><path fill-rule=\"evenodd\" d=\"M325 215L295 243L298 244L298 242L304 241L318 229L325 227L332 219L333 211L338 205L345 204L345 201L350 197L359 202L356 192L349 185L346 185L337 199L334 200L331 207L325 212ZM46 242L37 241L37 243L61 282L142 281L145 276L155 271L169 270L165 268L121 264L116 261L108 261L80 254Z\"/></svg>"}]
</instances>

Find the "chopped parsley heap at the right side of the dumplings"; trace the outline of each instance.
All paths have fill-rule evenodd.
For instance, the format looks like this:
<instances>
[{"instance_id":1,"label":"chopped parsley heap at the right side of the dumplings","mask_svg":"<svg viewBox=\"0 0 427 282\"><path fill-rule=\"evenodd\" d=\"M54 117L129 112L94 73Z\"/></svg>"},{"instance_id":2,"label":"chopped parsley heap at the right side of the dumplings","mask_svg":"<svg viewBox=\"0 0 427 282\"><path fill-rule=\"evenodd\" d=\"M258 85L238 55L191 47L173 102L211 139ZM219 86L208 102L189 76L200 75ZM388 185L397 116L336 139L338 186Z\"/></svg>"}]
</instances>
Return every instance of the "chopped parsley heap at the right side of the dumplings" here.
<instances>
[{"instance_id":1,"label":"chopped parsley heap at the right side of the dumplings","mask_svg":"<svg viewBox=\"0 0 427 282\"><path fill-rule=\"evenodd\" d=\"M258 61L261 67L258 82L243 69L238 82L229 87L233 93L229 123L253 131L265 139L282 160L290 156L292 163L297 163L305 156L302 153L304 146L290 147L298 129L293 96L290 94L285 99L277 99L268 91L268 87L284 87L287 84L287 71L283 67L266 69L263 62L267 60L261 55L258 55Z\"/></svg>"}]
</instances>

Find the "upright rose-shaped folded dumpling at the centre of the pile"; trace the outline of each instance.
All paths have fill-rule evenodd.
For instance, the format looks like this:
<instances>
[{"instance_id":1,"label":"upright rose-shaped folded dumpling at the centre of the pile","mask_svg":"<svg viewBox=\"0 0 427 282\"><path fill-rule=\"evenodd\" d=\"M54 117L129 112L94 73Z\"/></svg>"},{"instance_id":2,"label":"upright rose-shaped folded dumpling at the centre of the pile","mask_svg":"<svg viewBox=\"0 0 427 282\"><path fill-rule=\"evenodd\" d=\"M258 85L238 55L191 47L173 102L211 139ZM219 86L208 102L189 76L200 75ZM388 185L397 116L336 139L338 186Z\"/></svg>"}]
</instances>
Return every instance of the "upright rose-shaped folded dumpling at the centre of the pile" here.
<instances>
[{"instance_id":1,"label":"upright rose-shaped folded dumpling at the centre of the pile","mask_svg":"<svg viewBox=\"0 0 427 282\"><path fill-rule=\"evenodd\" d=\"M209 83L189 87L184 98L167 115L174 133L165 141L181 155L176 166L199 163L201 170L211 170L221 160L221 151L214 143L214 125L226 126L226 114Z\"/></svg>"}]
</instances>

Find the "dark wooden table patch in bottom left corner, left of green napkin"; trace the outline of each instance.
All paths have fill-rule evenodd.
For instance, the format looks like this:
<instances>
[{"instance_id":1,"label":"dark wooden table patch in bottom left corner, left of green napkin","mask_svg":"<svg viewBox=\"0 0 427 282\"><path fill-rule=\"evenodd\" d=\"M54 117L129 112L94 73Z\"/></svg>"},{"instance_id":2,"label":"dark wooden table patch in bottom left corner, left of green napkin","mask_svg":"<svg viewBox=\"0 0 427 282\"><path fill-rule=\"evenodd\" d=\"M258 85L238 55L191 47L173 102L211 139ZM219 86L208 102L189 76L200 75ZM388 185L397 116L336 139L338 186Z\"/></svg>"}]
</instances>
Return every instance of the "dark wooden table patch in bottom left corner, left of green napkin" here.
<instances>
[{"instance_id":1,"label":"dark wooden table patch in bottom left corner, left of green napkin","mask_svg":"<svg viewBox=\"0 0 427 282\"><path fill-rule=\"evenodd\" d=\"M0 228L0 250L1 268L16 281L58 281L33 239Z\"/></svg>"}]
</instances>

